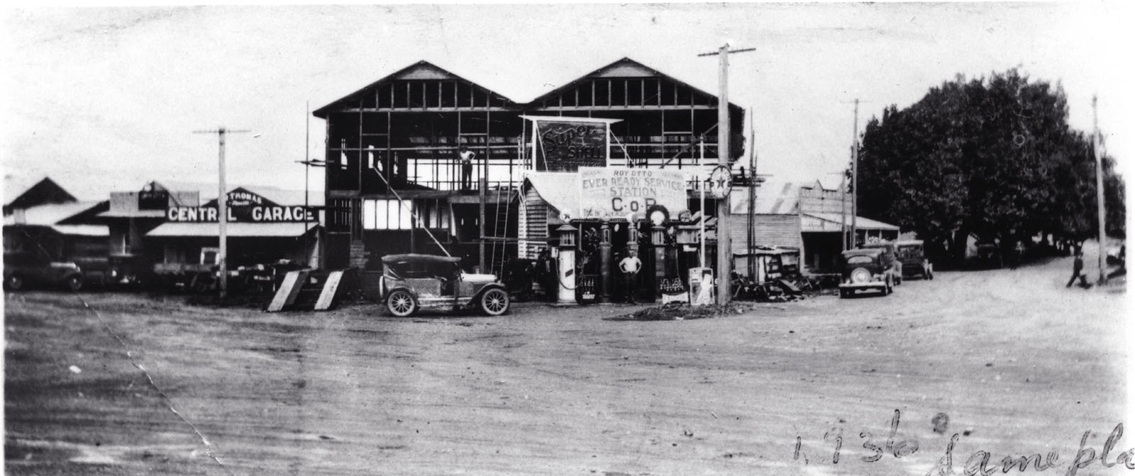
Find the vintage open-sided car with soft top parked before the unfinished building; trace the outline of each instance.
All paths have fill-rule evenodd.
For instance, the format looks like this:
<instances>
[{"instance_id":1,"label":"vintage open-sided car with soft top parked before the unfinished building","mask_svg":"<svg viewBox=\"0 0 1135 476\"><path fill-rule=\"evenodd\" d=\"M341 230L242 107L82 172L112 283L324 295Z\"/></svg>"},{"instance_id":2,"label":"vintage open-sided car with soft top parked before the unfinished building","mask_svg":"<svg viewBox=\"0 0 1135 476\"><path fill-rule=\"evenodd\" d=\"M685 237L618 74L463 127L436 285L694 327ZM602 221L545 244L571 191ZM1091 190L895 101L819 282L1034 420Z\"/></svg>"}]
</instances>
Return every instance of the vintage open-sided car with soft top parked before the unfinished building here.
<instances>
[{"instance_id":1,"label":"vintage open-sided car with soft top parked before the unfinished building","mask_svg":"<svg viewBox=\"0 0 1135 476\"><path fill-rule=\"evenodd\" d=\"M382 256L379 295L387 312L409 316L421 309L477 308L497 316L508 312L508 291L493 274L461 271L461 258L434 255Z\"/></svg>"}]
</instances>

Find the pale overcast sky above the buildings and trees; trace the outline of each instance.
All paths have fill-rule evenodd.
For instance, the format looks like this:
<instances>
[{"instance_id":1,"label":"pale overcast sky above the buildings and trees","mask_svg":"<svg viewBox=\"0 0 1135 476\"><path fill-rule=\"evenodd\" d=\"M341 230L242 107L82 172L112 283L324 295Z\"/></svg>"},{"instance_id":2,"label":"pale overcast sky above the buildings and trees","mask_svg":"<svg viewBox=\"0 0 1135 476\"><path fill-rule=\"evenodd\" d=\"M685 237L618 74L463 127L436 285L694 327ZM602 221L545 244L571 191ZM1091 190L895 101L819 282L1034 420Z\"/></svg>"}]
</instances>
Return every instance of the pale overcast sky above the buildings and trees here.
<instances>
[{"instance_id":1,"label":"pale overcast sky above the buildings and trees","mask_svg":"<svg viewBox=\"0 0 1135 476\"><path fill-rule=\"evenodd\" d=\"M303 189L318 109L419 60L519 102L628 57L754 120L757 171L838 181L855 125L958 75L1018 68L1059 84L1069 122L1135 159L1119 1L1014 3L522 3L0 9L6 202L43 177L81 198L150 180ZM858 122L854 101L860 100ZM312 190L322 189L312 169Z\"/></svg>"}]
</instances>

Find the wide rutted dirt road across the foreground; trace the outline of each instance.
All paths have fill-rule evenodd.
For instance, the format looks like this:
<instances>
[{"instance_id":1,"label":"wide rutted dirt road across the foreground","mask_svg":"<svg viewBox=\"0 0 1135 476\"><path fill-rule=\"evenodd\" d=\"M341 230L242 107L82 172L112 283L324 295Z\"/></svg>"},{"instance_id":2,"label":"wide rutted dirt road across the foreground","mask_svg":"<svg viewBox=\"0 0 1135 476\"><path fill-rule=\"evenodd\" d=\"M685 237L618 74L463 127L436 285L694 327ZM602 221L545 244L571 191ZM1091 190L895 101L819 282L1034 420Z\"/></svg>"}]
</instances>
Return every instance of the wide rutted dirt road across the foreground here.
<instances>
[{"instance_id":1,"label":"wide rutted dirt road across the foreground","mask_svg":"<svg viewBox=\"0 0 1135 476\"><path fill-rule=\"evenodd\" d=\"M1056 452L1065 474L1085 432L1099 459L1132 422L1125 294L1066 289L1069 260L657 322L611 320L625 306L394 318L8 294L5 468L925 475L958 434L955 474L977 451L998 474ZM1135 448L1127 432L1108 462Z\"/></svg>"}]
</instances>

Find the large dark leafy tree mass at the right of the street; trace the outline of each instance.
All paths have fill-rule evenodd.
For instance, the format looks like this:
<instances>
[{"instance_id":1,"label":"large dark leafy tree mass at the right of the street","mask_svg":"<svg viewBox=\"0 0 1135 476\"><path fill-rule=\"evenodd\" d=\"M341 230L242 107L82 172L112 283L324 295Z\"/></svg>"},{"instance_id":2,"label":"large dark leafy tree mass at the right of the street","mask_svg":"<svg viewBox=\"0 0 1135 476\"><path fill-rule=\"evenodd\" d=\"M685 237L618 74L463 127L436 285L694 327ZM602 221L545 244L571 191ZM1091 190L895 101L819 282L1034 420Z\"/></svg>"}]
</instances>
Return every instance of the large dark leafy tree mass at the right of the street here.
<instances>
[{"instance_id":1,"label":"large dark leafy tree mass at the right of the street","mask_svg":"<svg viewBox=\"0 0 1135 476\"><path fill-rule=\"evenodd\" d=\"M966 238L1093 235L1091 139L1067 122L1063 91L1010 69L957 77L873 118L859 150L860 214L914 230L964 257ZM1123 232L1123 180L1104 158L1109 226Z\"/></svg>"}]
</instances>

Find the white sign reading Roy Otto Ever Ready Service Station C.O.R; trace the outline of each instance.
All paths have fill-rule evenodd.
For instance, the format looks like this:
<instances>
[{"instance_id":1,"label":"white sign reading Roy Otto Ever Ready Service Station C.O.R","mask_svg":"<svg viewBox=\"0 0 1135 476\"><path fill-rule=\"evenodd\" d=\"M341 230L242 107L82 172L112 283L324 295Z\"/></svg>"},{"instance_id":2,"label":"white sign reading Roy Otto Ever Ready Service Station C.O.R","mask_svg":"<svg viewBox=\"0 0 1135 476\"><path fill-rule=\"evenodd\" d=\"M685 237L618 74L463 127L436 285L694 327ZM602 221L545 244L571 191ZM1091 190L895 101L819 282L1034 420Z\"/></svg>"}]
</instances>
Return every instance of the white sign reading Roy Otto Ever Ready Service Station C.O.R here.
<instances>
[{"instance_id":1,"label":"white sign reading Roy Otto Ever Ready Service Station C.O.R","mask_svg":"<svg viewBox=\"0 0 1135 476\"><path fill-rule=\"evenodd\" d=\"M579 218L624 218L653 205L673 214L688 206L681 170L581 167L579 178Z\"/></svg>"}]
</instances>

